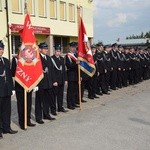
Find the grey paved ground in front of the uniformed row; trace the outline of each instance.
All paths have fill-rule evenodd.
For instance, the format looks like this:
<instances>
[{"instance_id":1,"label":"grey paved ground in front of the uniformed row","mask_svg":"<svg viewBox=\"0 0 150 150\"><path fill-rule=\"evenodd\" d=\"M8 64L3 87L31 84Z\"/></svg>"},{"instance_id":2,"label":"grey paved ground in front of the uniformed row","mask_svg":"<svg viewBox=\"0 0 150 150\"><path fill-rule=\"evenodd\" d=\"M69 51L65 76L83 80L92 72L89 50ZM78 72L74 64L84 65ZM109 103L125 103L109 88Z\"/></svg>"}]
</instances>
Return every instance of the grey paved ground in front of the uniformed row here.
<instances>
[{"instance_id":1,"label":"grey paved ground in front of the uniformed row","mask_svg":"<svg viewBox=\"0 0 150 150\"><path fill-rule=\"evenodd\" d=\"M18 128L15 100L12 107L19 132L4 135L0 150L150 150L150 81L88 100L82 111L60 113L27 131Z\"/></svg>"}]
</instances>

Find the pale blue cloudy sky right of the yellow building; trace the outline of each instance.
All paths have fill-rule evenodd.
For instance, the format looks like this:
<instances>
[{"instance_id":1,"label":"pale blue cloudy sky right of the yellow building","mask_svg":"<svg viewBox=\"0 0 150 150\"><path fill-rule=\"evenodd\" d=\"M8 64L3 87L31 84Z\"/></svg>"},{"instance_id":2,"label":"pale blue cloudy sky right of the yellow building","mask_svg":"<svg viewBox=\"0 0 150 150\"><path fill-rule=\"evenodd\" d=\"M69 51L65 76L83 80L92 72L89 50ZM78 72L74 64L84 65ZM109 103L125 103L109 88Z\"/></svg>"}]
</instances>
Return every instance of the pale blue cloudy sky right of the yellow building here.
<instances>
[{"instance_id":1,"label":"pale blue cloudy sky right of the yellow building","mask_svg":"<svg viewBox=\"0 0 150 150\"><path fill-rule=\"evenodd\" d=\"M150 0L93 0L94 42L115 43L150 31Z\"/></svg>"}]
</instances>

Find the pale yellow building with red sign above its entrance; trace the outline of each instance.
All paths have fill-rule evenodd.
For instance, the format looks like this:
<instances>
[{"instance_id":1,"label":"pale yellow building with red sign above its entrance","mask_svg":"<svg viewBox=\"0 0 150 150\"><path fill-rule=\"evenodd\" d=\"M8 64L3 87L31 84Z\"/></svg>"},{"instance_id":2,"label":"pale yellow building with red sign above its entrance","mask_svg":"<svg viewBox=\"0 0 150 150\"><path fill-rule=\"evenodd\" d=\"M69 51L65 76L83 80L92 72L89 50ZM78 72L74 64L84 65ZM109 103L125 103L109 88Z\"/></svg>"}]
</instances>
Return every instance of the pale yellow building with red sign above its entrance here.
<instances>
[{"instance_id":1,"label":"pale yellow building with red sign above its entrance","mask_svg":"<svg viewBox=\"0 0 150 150\"><path fill-rule=\"evenodd\" d=\"M61 44L63 53L66 53L68 43L78 38L77 6L80 6L89 41L92 42L93 0L0 0L0 40L5 44L4 55L11 58L17 52L25 8L31 16L37 44L47 42L49 54L53 53L54 45Z\"/></svg>"}]
</instances>

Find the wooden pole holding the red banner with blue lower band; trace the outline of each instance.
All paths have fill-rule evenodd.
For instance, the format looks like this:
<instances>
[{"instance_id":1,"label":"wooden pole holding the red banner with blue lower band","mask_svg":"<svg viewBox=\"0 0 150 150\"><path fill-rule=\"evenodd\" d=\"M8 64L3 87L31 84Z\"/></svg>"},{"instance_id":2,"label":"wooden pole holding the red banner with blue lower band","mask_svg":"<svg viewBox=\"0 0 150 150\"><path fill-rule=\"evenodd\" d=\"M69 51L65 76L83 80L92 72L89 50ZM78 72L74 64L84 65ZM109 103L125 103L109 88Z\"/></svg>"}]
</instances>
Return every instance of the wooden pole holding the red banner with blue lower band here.
<instances>
[{"instance_id":1,"label":"wooden pole holding the red banner with blue lower band","mask_svg":"<svg viewBox=\"0 0 150 150\"><path fill-rule=\"evenodd\" d=\"M78 38L79 38L79 29L80 29L80 5L77 6L77 18L78 18ZM79 44L79 43L78 43ZM81 102L81 70L80 70L80 64L78 64L78 92L79 92L79 104L80 104L80 110L82 110L82 102Z\"/></svg>"}]
</instances>

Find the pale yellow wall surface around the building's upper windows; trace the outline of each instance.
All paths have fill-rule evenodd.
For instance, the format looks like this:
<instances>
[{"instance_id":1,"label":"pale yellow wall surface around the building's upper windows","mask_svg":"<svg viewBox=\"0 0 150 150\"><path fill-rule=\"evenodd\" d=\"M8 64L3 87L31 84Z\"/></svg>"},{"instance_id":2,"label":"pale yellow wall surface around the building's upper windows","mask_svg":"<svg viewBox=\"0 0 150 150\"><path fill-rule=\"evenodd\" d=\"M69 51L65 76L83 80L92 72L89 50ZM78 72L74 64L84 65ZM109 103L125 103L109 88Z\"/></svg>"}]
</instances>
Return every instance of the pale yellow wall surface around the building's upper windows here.
<instances>
[{"instance_id":1,"label":"pale yellow wall surface around the building's upper windows","mask_svg":"<svg viewBox=\"0 0 150 150\"><path fill-rule=\"evenodd\" d=\"M5 0L1 0L3 2L3 5L5 6ZM14 9L19 9L14 12ZM9 23L10 24L23 24L24 23L24 1L25 0L8 0L8 10L9 10ZM87 30L87 35L90 38L93 38L93 3L89 3L88 0L54 0L56 3L56 17L53 19L51 18L51 10L50 10L50 4L49 2L51 0L27 0L28 3L30 3L29 11L32 9L31 13L31 22L33 26L41 26L41 27L49 27L50 28L50 35L36 35L37 41L43 42L46 41L50 45L50 49L53 49L54 40L52 39L54 36L61 36L61 37L69 37L69 41L77 41L78 36L78 21L77 21L77 6L81 6L81 14L83 17L83 21ZM39 13L42 14L44 11L42 9L42 2L45 1L45 16L39 16ZM66 18L64 20L61 20L62 17L62 9L60 7L62 6L60 3L66 3ZM70 4L74 5L74 20L69 21L69 6ZM61 12L61 15L60 15ZM6 15L5 10L2 10L0 12L0 17L4 17ZM0 33L0 37L5 37L6 34L6 21L3 22L3 30L2 33ZM11 33L11 30L10 30ZM13 34L13 33L11 33ZM11 36L10 36L11 38ZM10 40L11 41L11 40ZM69 42L68 41L68 42ZM53 43L51 43L53 42ZM12 43L10 43L12 45ZM52 52L49 52L49 54L52 54ZM7 54L5 54L7 56Z\"/></svg>"}]
</instances>

